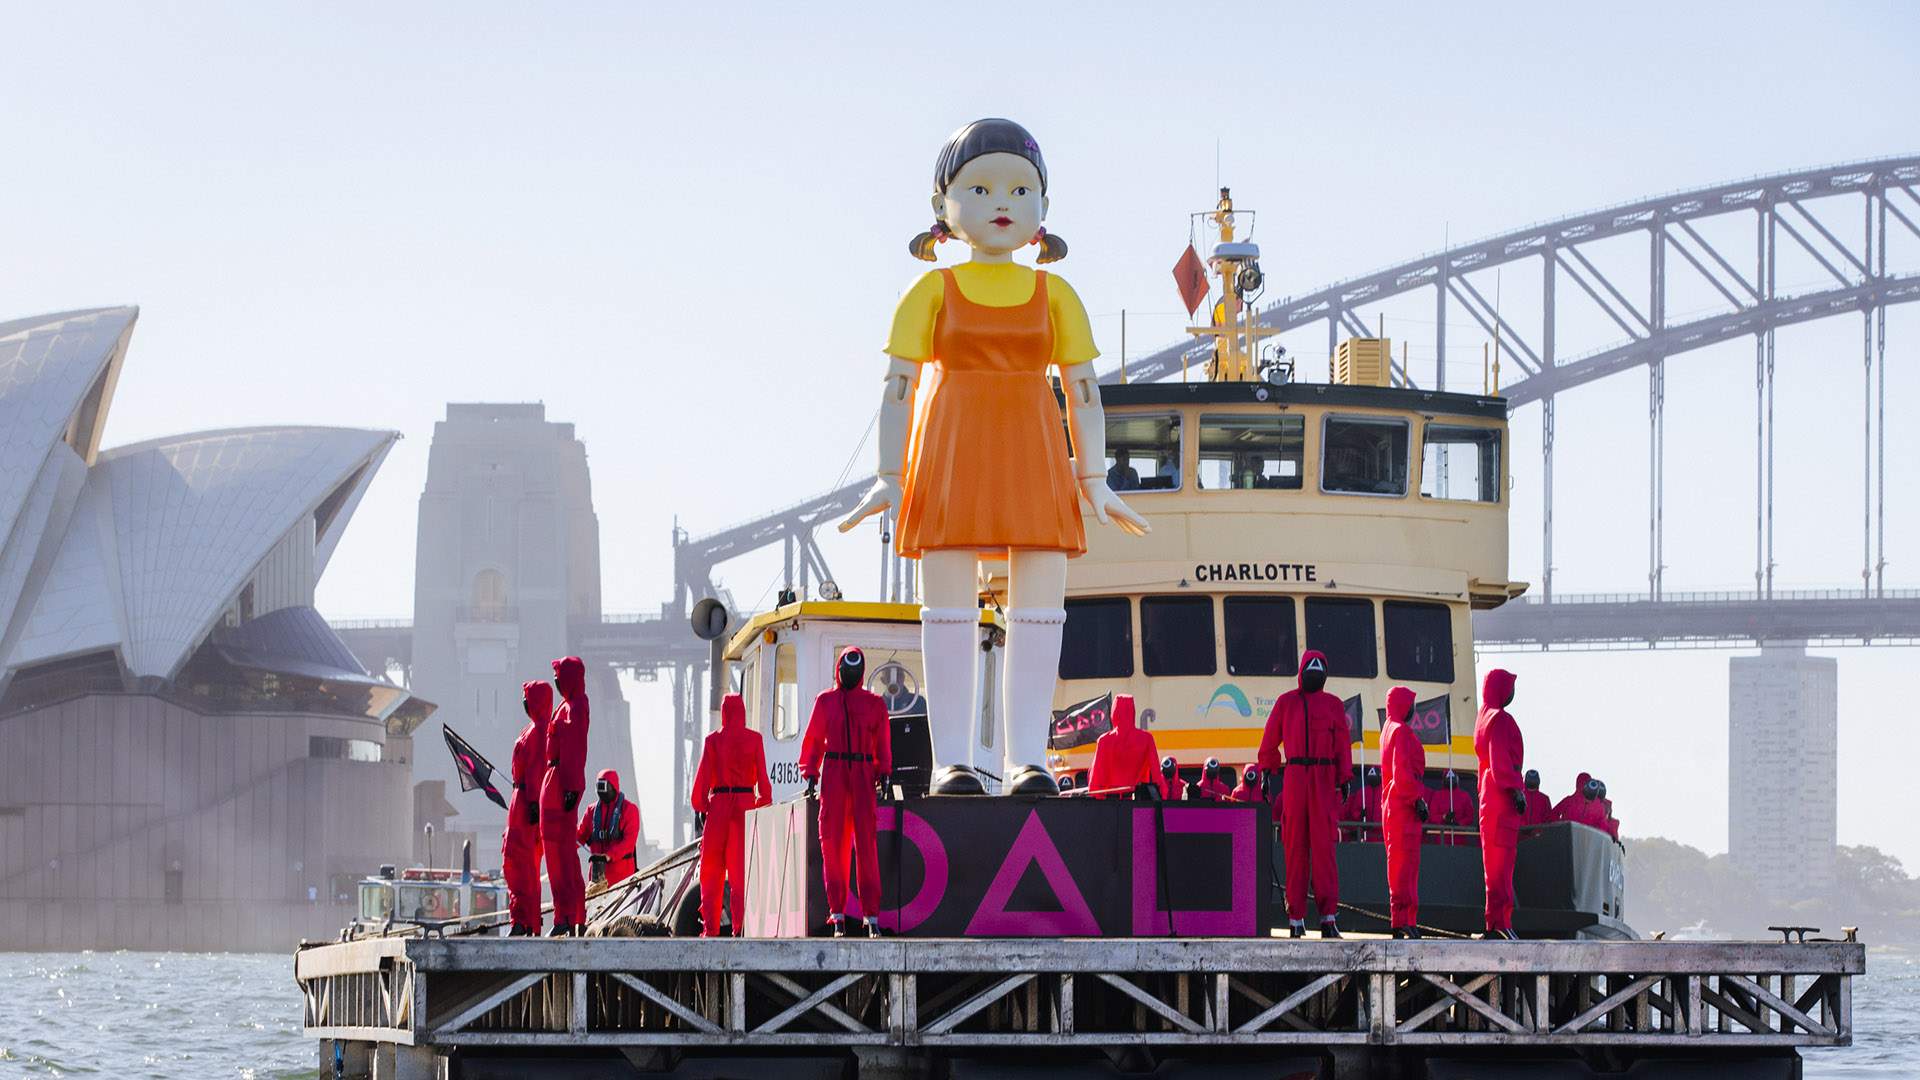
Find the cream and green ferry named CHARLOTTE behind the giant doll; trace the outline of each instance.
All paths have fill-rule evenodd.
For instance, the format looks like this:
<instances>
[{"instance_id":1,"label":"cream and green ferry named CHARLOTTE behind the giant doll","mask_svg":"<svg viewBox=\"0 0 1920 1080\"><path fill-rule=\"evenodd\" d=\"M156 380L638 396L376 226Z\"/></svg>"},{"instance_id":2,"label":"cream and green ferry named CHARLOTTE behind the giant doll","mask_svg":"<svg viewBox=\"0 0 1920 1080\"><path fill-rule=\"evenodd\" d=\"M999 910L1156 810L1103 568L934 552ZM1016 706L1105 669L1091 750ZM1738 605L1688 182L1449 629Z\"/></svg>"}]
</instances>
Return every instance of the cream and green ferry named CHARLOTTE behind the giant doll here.
<instances>
[{"instance_id":1,"label":"cream and green ferry named CHARLOTTE behind the giant doll","mask_svg":"<svg viewBox=\"0 0 1920 1080\"><path fill-rule=\"evenodd\" d=\"M1327 380L1306 380L1252 317L1263 275L1235 236L1242 215L1227 188L1204 211L1217 240L1190 265L1212 269L1217 300L1181 380L1102 386L1108 484L1154 530L1089 530L1069 563L1048 765L1085 786L1104 730L1087 705L1117 692L1185 778L1217 759L1231 788L1311 648L1346 701L1356 780L1379 763L1386 690L1405 684L1428 786L1452 773L1471 794L1473 613L1526 590L1507 569L1507 404L1498 386L1413 386L1384 336L1342 340ZM1473 824L1436 822L1423 855L1423 919L1442 930L1478 930ZM1607 834L1538 828L1519 867L1523 934L1630 936ZM1340 884L1342 920L1384 928L1382 846L1342 844Z\"/></svg>"}]
</instances>

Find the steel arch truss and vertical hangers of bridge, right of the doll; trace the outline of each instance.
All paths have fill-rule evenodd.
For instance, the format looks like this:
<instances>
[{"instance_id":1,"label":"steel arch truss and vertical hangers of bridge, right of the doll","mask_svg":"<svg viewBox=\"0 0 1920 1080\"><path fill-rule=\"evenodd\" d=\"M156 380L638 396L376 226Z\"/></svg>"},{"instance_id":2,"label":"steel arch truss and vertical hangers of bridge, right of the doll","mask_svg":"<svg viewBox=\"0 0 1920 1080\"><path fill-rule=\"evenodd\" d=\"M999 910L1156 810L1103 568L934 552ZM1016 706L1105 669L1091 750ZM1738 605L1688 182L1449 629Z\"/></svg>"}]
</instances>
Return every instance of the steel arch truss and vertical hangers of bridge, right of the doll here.
<instances>
[{"instance_id":1,"label":"steel arch truss and vertical hangers of bridge, right of the doll","mask_svg":"<svg viewBox=\"0 0 1920 1080\"><path fill-rule=\"evenodd\" d=\"M1258 311L1263 325L1281 331L1327 325L1329 356L1344 334L1369 336L1371 307L1404 294L1430 292L1434 304L1430 384L1446 390L1448 317L1457 307L1492 338L1494 363L1519 371L1498 390L1513 409L1540 404L1544 454L1542 588L1553 603L1553 419L1555 396L1574 386L1636 367L1647 369L1647 600L1665 598L1663 502L1667 361L1711 344L1753 338L1755 350L1755 590L1774 596L1774 332L1780 327L1859 313L1862 321L1862 369L1866 384L1864 490L1860 594L1885 590L1885 309L1920 300L1920 265L1887 267L1889 229L1920 238L1920 156L1851 161L1826 169L1799 169L1753 177L1711 188L1674 192L1580 213L1461 244L1363 277L1292 296ZM1839 236L1826 217L1860 223L1855 238ZM1724 242L1701 233L1709 221L1751 217L1751 269L1724 254ZM1645 273L1620 282L1601 271L1596 248L1620 236L1645 240ZM1778 286L1780 252L1799 252L1830 281L1812 290L1784 294ZM1532 267L1540 275L1538 321L1515 325L1488 300L1490 271ZM1692 319L1670 319L1668 300L1676 277L1697 275L1720 306ZM1626 338L1619 344L1561 356L1557 350L1561 282L1571 282ZM1636 302L1638 298L1638 302ZM1165 379L1194 363L1208 346L1177 344L1127 365L1131 380ZM1200 352L1196 352L1200 350ZM1411 371L1394 365L1407 386ZM1106 380L1119 380L1116 369ZM1574 626L1569 626L1574 628ZM1864 634L1857 634L1864 636Z\"/></svg>"}]
</instances>

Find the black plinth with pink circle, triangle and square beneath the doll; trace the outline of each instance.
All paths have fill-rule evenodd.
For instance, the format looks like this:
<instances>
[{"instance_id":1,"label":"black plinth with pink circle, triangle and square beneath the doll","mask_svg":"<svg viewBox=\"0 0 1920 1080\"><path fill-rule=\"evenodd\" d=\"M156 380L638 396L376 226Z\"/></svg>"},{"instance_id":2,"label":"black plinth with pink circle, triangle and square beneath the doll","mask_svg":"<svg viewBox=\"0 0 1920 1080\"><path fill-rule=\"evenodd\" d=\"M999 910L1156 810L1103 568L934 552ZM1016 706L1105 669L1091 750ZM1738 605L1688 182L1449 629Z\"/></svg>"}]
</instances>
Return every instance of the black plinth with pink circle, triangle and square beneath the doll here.
<instances>
[{"instance_id":1,"label":"black plinth with pink circle, triangle and square beneath the doll","mask_svg":"<svg viewBox=\"0 0 1920 1080\"><path fill-rule=\"evenodd\" d=\"M877 842L879 924L902 936L1263 938L1273 928L1263 803L929 796L881 803ZM747 851L747 936L824 934L814 805L751 811Z\"/></svg>"}]
</instances>

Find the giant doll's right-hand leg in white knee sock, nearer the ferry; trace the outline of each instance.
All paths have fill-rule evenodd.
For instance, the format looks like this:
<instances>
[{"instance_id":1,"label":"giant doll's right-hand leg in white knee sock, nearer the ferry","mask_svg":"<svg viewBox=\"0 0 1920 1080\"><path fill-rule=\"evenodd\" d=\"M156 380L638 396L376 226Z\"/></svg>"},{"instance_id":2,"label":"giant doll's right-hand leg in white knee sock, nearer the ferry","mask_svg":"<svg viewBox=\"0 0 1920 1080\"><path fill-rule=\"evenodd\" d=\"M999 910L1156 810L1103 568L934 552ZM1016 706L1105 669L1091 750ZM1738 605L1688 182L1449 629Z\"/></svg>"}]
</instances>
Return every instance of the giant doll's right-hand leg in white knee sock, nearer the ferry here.
<instances>
[{"instance_id":1,"label":"giant doll's right-hand leg in white knee sock, nearer the ferry","mask_svg":"<svg viewBox=\"0 0 1920 1080\"><path fill-rule=\"evenodd\" d=\"M1060 678L1060 632L1068 613L1064 552L1014 552L1006 582L1006 738L1004 767L1046 765L1046 728L1054 719ZM1006 776L1008 773L1002 773Z\"/></svg>"}]
</instances>

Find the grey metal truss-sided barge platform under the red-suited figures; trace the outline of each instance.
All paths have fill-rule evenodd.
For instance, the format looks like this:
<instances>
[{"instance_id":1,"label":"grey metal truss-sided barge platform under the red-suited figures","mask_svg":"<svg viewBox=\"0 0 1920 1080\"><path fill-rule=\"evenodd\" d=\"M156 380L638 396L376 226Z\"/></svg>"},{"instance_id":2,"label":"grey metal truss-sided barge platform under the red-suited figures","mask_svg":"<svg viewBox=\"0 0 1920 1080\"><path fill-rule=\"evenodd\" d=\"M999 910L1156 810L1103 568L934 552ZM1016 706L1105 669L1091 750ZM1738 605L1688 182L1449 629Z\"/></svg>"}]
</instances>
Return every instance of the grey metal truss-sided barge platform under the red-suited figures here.
<instances>
[{"instance_id":1,"label":"grey metal truss-sided barge platform under the red-suited figures","mask_svg":"<svg viewBox=\"0 0 1920 1080\"><path fill-rule=\"evenodd\" d=\"M1847 1045L1847 942L372 938L303 949L311 1038L672 1047Z\"/></svg>"}]
</instances>

